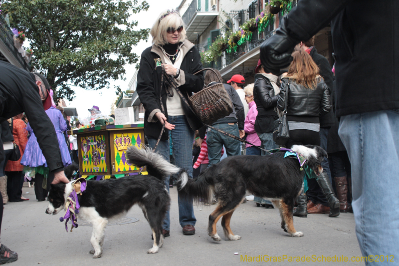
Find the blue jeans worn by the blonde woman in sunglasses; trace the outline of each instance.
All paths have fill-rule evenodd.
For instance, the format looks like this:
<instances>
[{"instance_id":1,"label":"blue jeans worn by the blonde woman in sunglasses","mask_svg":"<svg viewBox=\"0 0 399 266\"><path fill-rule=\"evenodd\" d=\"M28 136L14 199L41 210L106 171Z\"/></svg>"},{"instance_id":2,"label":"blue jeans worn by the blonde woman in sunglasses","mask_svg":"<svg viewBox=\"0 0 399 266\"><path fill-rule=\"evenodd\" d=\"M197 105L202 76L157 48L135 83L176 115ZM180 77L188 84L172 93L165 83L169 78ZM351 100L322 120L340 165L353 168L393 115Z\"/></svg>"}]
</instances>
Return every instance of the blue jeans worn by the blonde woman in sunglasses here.
<instances>
[{"instance_id":1,"label":"blue jeans worn by the blonde woman in sunglasses","mask_svg":"<svg viewBox=\"0 0 399 266\"><path fill-rule=\"evenodd\" d=\"M185 168L190 177L193 176L193 142L194 131L187 122L186 116L168 116L168 122L174 124L176 127L169 131L173 142L173 154L175 157L175 165L180 168ZM148 138L148 145L154 147L157 139ZM169 140L160 141L156 152L160 153L165 160L169 162ZM165 186L169 192L169 176L165 178ZM195 226L197 219L194 215L193 201L185 201L179 197L179 222L182 227L186 225ZM166 214L163 229L170 230L171 219L169 211Z\"/></svg>"}]
</instances>

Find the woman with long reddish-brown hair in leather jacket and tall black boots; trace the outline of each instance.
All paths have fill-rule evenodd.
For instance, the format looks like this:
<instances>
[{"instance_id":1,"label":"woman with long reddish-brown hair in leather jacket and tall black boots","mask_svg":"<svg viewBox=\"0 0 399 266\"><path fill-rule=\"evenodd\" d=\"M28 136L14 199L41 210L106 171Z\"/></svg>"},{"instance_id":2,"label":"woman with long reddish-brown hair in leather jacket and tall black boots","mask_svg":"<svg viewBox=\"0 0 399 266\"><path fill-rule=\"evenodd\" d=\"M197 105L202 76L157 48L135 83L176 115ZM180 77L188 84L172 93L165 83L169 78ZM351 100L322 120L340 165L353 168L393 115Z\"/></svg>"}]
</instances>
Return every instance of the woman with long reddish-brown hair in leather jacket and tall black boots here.
<instances>
[{"instance_id":1,"label":"woman with long reddish-brown hair in leather jacket and tall black boots","mask_svg":"<svg viewBox=\"0 0 399 266\"><path fill-rule=\"evenodd\" d=\"M277 108L284 110L287 100L287 120L290 139L286 147L292 145L320 145L320 120L321 114L331 109L330 94L323 78L319 75L319 67L312 57L305 51L296 51L288 69L288 73L281 81L280 94ZM288 91L288 98L286 99ZM309 194L315 194L317 208L323 208L321 213L330 213L330 217L340 214L340 202L335 197L327 173L321 173L316 181L307 179ZM320 186L320 189L319 187ZM323 196L324 194L324 196ZM326 201L327 198L327 201ZM306 195L301 193L297 198L298 208L294 215L306 217Z\"/></svg>"}]
</instances>

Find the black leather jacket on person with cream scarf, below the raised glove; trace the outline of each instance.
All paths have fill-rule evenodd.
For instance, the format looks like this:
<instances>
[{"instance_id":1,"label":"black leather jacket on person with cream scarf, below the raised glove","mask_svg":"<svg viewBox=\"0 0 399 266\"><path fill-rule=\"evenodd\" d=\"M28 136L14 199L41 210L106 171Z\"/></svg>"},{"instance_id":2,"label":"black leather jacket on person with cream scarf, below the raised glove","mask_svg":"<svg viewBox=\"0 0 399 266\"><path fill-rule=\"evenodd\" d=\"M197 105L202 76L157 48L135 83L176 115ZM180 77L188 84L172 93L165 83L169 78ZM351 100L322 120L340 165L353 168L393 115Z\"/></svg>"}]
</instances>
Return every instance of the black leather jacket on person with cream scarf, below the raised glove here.
<instances>
[{"instance_id":1,"label":"black leather jacket on person with cream scarf, below the raised glove","mask_svg":"<svg viewBox=\"0 0 399 266\"><path fill-rule=\"evenodd\" d=\"M277 99L278 96L274 95L274 88L270 81L262 74L256 74L253 85L253 100L258 111L257 117L277 116L277 113L274 111Z\"/></svg>"}]
</instances>

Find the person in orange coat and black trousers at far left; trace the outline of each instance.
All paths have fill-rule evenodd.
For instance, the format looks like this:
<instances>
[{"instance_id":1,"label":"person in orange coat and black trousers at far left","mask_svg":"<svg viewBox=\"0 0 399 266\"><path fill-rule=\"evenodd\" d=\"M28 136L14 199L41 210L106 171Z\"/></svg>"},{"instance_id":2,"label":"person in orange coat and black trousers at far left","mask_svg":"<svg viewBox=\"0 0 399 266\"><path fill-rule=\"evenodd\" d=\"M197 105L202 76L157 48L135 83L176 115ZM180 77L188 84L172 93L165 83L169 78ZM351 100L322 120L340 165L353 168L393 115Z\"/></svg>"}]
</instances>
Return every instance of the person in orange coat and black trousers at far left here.
<instances>
[{"instance_id":1,"label":"person in orange coat and black trousers at far left","mask_svg":"<svg viewBox=\"0 0 399 266\"><path fill-rule=\"evenodd\" d=\"M26 131L26 124L22 121L23 114L18 114L12 117L12 135L14 141L19 147L21 157L18 161L9 161L5 167L7 175L7 195L10 202L27 201L22 197L22 186L24 176L22 174L23 166L20 164L23 152L25 151L26 143L28 142L28 133Z\"/></svg>"}]
</instances>

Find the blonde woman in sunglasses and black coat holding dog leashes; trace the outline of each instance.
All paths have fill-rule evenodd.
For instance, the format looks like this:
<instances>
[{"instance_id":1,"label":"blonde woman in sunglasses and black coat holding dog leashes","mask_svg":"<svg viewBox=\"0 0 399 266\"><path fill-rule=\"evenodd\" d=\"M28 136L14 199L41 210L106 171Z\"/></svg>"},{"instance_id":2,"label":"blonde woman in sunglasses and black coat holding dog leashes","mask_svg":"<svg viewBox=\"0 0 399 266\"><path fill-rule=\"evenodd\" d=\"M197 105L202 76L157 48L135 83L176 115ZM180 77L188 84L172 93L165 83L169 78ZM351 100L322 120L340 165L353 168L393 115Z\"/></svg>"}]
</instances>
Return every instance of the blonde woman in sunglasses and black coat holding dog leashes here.
<instances>
[{"instance_id":1,"label":"blonde woman in sunglasses and black coat holding dog leashes","mask_svg":"<svg viewBox=\"0 0 399 266\"><path fill-rule=\"evenodd\" d=\"M161 86L162 65L165 72L175 79L180 91L188 99L193 92L203 88L200 53L193 43L186 39L186 25L175 10L162 12L150 34L153 45L141 55L138 73L137 93L146 109L144 116L144 134L150 147L154 147L165 123L165 131L157 152L169 161L169 138L172 138L175 164L189 170L192 176L192 150L194 131L202 124L196 115L181 100L175 89ZM169 177L165 180L169 191ZM173 207L172 207L173 208ZM179 221L184 235L195 234L196 217L193 202L179 198ZM169 212L163 225L164 237L170 235Z\"/></svg>"}]
</instances>

